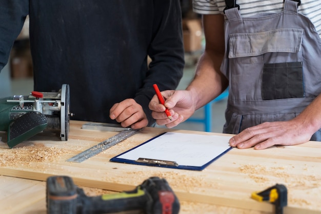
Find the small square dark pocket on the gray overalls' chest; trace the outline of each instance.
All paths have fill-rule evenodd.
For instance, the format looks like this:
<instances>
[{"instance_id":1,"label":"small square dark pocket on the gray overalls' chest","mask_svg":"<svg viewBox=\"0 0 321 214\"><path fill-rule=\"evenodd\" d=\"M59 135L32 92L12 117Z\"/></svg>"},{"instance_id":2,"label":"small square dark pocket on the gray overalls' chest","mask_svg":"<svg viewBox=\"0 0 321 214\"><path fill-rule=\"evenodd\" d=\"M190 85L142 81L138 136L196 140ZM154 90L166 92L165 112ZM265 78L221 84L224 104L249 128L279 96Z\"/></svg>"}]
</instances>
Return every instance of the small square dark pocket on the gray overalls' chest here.
<instances>
[{"instance_id":1,"label":"small square dark pocket on the gray overalls' chest","mask_svg":"<svg viewBox=\"0 0 321 214\"><path fill-rule=\"evenodd\" d=\"M303 98L302 62L264 64L262 99Z\"/></svg>"}]
</instances>

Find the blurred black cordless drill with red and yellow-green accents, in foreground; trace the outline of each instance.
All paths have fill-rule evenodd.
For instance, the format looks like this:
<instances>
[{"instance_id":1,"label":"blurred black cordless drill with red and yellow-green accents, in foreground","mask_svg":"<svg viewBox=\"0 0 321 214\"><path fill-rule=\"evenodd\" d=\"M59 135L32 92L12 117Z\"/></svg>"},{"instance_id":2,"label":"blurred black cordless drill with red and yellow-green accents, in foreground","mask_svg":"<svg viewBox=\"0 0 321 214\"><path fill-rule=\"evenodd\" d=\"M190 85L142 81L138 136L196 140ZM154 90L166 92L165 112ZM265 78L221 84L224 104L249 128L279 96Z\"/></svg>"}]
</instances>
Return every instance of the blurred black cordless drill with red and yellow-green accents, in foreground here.
<instances>
[{"instance_id":1,"label":"blurred black cordless drill with red and yellow-green accents, in foreground","mask_svg":"<svg viewBox=\"0 0 321 214\"><path fill-rule=\"evenodd\" d=\"M179 201L165 179L151 177L132 191L88 197L67 176L47 179L48 214L99 214L141 210L146 214L177 214Z\"/></svg>"}]
</instances>

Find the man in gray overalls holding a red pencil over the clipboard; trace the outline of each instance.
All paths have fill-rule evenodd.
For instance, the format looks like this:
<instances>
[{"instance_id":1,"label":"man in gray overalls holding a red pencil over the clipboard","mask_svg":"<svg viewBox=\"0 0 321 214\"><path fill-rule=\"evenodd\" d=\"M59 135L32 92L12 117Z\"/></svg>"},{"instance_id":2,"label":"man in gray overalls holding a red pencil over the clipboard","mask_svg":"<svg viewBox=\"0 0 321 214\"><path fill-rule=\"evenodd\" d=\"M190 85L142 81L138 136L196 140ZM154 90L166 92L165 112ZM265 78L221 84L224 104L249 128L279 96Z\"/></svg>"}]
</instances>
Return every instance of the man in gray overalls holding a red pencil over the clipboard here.
<instances>
[{"instance_id":1,"label":"man in gray overalls holding a red pencil over the clipboard","mask_svg":"<svg viewBox=\"0 0 321 214\"><path fill-rule=\"evenodd\" d=\"M285 0L282 12L251 17L242 17L242 5L231 2L226 20L203 17L206 49L192 83L185 91L162 92L172 121L151 100L156 123L176 126L229 86L223 132L237 134L231 146L321 141L321 40L309 18L298 13L300 1Z\"/></svg>"}]
</instances>

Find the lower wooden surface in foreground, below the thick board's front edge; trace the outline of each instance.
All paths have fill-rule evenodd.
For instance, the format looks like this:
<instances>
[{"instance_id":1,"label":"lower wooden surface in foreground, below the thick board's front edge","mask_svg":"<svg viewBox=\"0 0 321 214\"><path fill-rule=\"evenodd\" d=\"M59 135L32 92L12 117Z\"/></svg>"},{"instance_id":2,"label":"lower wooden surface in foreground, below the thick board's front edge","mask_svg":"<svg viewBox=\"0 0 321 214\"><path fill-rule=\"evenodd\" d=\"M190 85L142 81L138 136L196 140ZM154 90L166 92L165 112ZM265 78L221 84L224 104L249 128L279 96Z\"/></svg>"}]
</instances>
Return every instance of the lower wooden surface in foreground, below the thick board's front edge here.
<instances>
[{"instance_id":1,"label":"lower wooden surface in foreground, below the thick board's front edge","mask_svg":"<svg viewBox=\"0 0 321 214\"><path fill-rule=\"evenodd\" d=\"M15 188L11 188L15 186ZM46 214L46 197L45 197L45 182L33 181L28 179L13 178L7 176L0 176L0 207L2 212L6 214ZM39 187L40 190L39 190ZM112 191L80 187L83 188L88 197L98 196L100 194L115 193ZM29 189L37 189L30 194ZM36 194L38 193L38 194ZM5 199L5 200L4 200ZM121 212L125 213L125 212ZM117 214L121 214L117 213ZM126 212L129 213L129 212ZM133 214L133 212L130 212ZM136 213L136 212L135 212ZM216 213L229 213L229 214L271 214L268 212L253 211L247 209L236 209L225 206L216 206L212 204L194 203L194 202L180 202L179 214L216 214Z\"/></svg>"}]
</instances>

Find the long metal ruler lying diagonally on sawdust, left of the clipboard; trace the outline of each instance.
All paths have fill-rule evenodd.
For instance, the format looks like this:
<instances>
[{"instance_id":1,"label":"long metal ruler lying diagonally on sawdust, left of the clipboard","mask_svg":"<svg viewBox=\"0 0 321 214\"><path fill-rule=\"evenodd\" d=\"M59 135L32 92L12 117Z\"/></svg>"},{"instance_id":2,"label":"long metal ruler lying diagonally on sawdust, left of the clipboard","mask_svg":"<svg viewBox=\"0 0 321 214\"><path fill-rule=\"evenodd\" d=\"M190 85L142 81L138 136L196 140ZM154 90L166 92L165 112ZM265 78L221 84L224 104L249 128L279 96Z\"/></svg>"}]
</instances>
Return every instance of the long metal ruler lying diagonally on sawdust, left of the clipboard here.
<instances>
[{"instance_id":1,"label":"long metal ruler lying diagonally on sawdust, left of the clipboard","mask_svg":"<svg viewBox=\"0 0 321 214\"><path fill-rule=\"evenodd\" d=\"M118 134L114 135L113 137L98 143L97 145L75 155L74 157L68 159L68 162L76 162L81 163L86 161L87 159L93 157L94 155L116 145L117 143L124 141L125 139L131 137L131 135L141 131L142 129L132 129L132 130L124 130L119 132Z\"/></svg>"}]
</instances>

